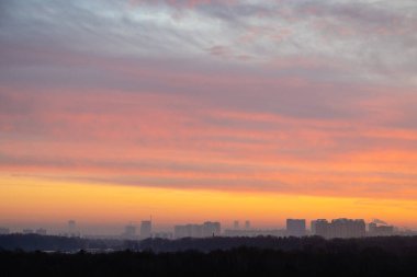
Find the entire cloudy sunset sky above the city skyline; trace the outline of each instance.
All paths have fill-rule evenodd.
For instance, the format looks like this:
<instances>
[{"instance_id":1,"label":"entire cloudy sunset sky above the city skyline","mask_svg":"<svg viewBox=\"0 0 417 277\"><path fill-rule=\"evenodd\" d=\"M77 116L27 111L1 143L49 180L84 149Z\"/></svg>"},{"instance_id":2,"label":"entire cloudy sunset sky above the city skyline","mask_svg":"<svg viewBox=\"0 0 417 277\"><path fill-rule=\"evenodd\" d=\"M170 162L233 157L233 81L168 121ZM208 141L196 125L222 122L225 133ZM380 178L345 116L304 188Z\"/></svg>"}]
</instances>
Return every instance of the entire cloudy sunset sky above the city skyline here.
<instances>
[{"instance_id":1,"label":"entire cloudy sunset sky above the city skyline","mask_svg":"<svg viewBox=\"0 0 417 277\"><path fill-rule=\"evenodd\" d=\"M1 1L0 226L417 228L416 26L414 0Z\"/></svg>"}]
</instances>

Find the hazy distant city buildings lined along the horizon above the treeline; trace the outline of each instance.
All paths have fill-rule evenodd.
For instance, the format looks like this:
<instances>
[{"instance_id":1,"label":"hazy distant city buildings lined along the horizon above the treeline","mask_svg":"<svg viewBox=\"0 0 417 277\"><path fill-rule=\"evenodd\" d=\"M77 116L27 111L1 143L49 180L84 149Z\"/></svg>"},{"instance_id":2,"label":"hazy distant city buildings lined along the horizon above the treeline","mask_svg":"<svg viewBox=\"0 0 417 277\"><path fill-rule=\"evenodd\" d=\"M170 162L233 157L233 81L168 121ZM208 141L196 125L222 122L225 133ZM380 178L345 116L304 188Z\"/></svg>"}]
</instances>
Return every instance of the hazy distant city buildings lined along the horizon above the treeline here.
<instances>
[{"instance_id":1,"label":"hazy distant city buildings lined along the horizon above the treeline","mask_svg":"<svg viewBox=\"0 0 417 277\"><path fill-rule=\"evenodd\" d=\"M139 227L139 228L138 228ZM9 228L0 227L0 234L23 233L23 234L52 234L44 228L22 229L10 231ZM239 220L233 222L233 227L222 230L218 221L205 221L200 224L187 223L176 224L171 232L156 232L153 230L151 220L143 220L140 224L129 222L124 227L124 232L119 235L83 235L77 227L76 220L67 222L67 231L54 233L55 235L69 238L112 238L121 240L144 240L148 238L160 239L182 239L182 238L210 238L210 236L305 236L318 235L325 239L334 238L362 238L362 236L388 236L388 235L416 235L417 232L399 229L382 220L374 219L367 223L363 219L315 219L309 222L307 228L306 219L286 219L285 229L258 229L252 228L249 220L240 224Z\"/></svg>"}]
</instances>

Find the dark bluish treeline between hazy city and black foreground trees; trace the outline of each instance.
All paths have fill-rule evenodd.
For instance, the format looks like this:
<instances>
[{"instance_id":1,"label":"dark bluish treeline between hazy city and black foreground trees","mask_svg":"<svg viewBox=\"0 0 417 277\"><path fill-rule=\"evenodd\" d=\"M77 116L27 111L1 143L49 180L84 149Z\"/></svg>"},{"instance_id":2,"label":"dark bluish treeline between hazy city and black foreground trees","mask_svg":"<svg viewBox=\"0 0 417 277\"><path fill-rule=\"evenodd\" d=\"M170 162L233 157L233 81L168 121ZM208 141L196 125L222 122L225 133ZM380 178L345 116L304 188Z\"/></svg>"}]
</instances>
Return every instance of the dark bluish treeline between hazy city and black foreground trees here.
<instances>
[{"instance_id":1,"label":"dark bluish treeline between hazy city and black foreground trees","mask_svg":"<svg viewBox=\"0 0 417 277\"><path fill-rule=\"evenodd\" d=\"M78 252L80 250L109 250L124 251L151 251L182 252L199 251L212 252L215 250L232 250L240 246L268 249L277 251L305 251L346 249L350 251L362 251L370 247L379 247L390 253L401 253L406 250L417 249L417 236L375 236L361 239L334 239L325 240L320 236L304 238L185 238L180 240L147 239L144 241L123 240L91 240L81 238L65 238L37 234L7 234L0 235L0 250L7 251L57 251Z\"/></svg>"}]
</instances>

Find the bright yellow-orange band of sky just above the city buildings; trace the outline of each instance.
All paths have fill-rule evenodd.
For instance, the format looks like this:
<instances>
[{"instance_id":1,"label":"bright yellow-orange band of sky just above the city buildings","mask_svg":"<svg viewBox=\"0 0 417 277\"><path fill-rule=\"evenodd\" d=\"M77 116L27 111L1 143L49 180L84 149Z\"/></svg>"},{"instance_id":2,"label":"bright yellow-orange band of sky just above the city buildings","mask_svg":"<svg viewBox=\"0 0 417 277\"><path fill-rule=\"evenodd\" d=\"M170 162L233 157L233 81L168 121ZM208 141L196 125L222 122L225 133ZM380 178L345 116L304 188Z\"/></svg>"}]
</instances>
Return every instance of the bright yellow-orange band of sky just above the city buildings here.
<instances>
[{"instance_id":1,"label":"bright yellow-orange band of sky just above the city buildings","mask_svg":"<svg viewBox=\"0 0 417 277\"><path fill-rule=\"evenodd\" d=\"M262 228L283 227L285 218L379 217L410 227L417 209L417 200L98 185L4 175L0 195L0 221L4 222L76 218L84 224L124 224L153 215L156 227L204 220L227 227L234 219L250 219Z\"/></svg>"}]
</instances>

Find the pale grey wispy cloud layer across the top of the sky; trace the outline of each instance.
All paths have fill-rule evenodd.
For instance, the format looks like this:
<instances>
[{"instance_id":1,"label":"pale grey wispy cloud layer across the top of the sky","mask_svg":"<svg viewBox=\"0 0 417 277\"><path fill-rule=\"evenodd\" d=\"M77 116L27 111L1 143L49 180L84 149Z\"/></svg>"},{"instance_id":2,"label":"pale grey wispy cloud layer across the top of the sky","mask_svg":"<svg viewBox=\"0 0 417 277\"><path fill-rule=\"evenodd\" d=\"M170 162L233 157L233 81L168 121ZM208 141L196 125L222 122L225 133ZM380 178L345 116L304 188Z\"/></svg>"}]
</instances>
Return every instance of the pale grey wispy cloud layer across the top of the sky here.
<instances>
[{"instance_id":1,"label":"pale grey wispy cloud layer across the top of the sky","mask_svg":"<svg viewBox=\"0 0 417 277\"><path fill-rule=\"evenodd\" d=\"M177 1L173 8L164 4L169 2L146 2L13 1L3 4L0 39L87 54L199 62L221 62L204 54L222 45L236 62L244 60L244 67L289 56L313 57L342 65L345 72L325 62L314 71L303 70L303 65L286 66L285 72L312 79L416 82L417 10L402 4L406 1L214 1L196 5ZM178 7L189 8L178 18ZM248 36L250 42L241 41Z\"/></svg>"}]
</instances>

